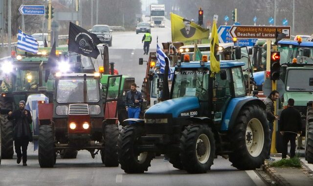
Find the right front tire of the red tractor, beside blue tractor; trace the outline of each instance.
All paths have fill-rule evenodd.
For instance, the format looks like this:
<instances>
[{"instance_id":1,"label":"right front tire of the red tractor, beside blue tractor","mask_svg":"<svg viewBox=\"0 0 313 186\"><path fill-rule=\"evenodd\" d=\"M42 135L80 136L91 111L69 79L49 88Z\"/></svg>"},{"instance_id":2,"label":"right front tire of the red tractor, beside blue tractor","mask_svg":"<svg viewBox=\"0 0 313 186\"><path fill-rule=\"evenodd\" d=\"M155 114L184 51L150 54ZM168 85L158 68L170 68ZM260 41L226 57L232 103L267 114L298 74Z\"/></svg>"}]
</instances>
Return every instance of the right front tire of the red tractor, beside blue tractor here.
<instances>
[{"instance_id":1,"label":"right front tire of the red tractor, beside blue tractor","mask_svg":"<svg viewBox=\"0 0 313 186\"><path fill-rule=\"evenodd\" d=\"M101 150L101 160L106 166L118 166L117 157L117 139L118 126L116 124L107 124L104 128L105 143Z\"/></svg>"}]
</instances>

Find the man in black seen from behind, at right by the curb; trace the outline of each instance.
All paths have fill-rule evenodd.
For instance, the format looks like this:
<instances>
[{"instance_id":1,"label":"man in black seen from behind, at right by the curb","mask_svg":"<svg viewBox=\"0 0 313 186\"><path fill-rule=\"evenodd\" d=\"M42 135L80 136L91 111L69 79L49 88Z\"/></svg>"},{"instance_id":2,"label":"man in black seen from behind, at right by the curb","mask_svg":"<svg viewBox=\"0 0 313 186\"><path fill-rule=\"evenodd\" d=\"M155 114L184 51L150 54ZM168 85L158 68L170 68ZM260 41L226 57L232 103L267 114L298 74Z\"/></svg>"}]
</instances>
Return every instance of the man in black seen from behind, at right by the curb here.
<instances>
[{"instance_id":1,"label":"man in black seen from behind, at right by the curb","mask_svg":"<svg viewBox=\"0 0 313 186\"><path fill-rule=\"evenodd\" d=\"M288 107L284 109L279 119L279 132L283 135L282 158L287 158L288 142L290 141L290 157L295 156L295 137L301 135L301 115L293 108L294 100L288 100Z\"/></svg>"}]
</instances>

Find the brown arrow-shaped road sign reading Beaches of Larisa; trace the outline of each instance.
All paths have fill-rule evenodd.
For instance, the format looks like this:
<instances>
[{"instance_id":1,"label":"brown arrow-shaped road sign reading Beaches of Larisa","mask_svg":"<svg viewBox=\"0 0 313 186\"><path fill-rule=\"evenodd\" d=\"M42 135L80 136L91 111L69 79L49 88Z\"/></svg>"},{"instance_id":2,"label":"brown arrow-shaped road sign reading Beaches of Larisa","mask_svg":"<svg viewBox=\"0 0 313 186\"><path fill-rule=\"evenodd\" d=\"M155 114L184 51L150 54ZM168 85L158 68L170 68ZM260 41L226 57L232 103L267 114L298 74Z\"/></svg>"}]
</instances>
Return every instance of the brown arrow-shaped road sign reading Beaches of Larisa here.
<instances>
[{"instance_id":1,"label":"brown arrow-shaped road sign reading Beaches of Larisa","mask_svg":"<svg viewBox=\"0 0 313 186\"><path fill-rule=\"evenodd\" d=\"M233 25L230 28L230 35L235 38L258 38L258 39L275 39L276 31L286 34L284 39L290 39L290 26L250 26L250 25Z\"/></svg>"}]
</instances>

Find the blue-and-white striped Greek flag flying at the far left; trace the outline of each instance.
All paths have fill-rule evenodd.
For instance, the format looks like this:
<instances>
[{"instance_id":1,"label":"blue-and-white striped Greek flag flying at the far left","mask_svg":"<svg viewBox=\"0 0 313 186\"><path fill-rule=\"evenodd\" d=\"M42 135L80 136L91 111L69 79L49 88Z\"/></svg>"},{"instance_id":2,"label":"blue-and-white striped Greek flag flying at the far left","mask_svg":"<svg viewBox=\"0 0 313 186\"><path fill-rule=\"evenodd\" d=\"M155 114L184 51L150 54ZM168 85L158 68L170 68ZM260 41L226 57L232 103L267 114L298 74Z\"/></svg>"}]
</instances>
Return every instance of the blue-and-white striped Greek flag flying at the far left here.
<instances>
[{"instance_id":1,"label":"blue-and-white striped Greek flag flying at the far left","mask_svg":"<svg viewBox=\"0 0 313 186\"><path fill-rule=\"evenodd\" d=\"M38 53L38 42L33 36L25 34L21 29L18 33L18 48L26 52Z\"/></svg>"}]
</instances>

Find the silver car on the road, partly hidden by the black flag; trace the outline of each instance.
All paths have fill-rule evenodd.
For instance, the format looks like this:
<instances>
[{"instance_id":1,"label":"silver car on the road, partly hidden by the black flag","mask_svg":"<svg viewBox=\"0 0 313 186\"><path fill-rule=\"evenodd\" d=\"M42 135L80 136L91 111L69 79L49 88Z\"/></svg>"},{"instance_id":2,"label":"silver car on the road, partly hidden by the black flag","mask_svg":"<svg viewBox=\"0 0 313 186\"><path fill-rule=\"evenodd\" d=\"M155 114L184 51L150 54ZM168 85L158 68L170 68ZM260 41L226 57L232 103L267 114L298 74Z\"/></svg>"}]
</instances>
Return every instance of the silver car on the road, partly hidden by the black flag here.
<instances>
[{"instance_id":1,"label":"silver car on the road, partly hidden by the black flag","mask_svg":"<svg viewBox=\"0 0 313 186\"><path fill-rule=\"evenodd\" d=\"M91 33L97 35L102 43L112 46L112 29L106 24L96 24L91 28Z\"/></svg>"}]
</instances>

